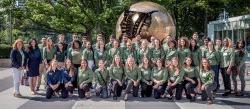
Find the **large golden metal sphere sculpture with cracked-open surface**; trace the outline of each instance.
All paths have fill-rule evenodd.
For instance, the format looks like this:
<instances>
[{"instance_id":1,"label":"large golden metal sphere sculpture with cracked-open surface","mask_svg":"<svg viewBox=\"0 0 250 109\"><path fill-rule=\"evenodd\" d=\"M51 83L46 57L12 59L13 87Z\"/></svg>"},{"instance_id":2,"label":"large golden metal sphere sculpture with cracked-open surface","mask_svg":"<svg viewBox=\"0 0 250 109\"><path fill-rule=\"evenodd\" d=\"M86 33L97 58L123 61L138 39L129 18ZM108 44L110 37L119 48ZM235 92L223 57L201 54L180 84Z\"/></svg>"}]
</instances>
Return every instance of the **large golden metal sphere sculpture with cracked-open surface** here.
<instances>
[{"instance_id":1,"label":"large golden metal sphere sculpture with cracked-open surface","mask_svg":"<svg viewBox=\"0 0 250 109\"><path fill-rule=\"evenodd\" d=\"M130 39L141 35L163 40L167 35L175 36L175 24L165 8L153 2L138 2L130 6L119 17L116 24L116 37L126 34Z\"/></svg>"}]
</instances>

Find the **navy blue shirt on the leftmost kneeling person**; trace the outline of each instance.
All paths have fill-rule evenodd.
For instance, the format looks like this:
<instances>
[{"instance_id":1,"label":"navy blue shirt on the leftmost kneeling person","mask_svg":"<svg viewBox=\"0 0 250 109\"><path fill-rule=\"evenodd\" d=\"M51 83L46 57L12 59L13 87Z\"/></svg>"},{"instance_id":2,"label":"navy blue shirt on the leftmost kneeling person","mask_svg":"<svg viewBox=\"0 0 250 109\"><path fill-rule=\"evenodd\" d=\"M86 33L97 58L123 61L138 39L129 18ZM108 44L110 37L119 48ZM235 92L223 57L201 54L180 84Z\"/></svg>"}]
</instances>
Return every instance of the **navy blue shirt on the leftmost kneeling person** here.
<instances>
[{"instance_id":1,"label":"navy blue shirt on the leftmost kneeling person","mask_svg":"<svg viewBox=\"0 0 250 109\"><path fill-rule=\"evenodd\" d=\"M62 70L56 69L55 71L50 70L47 74L47 84L55 85L55 84L61 84L63 82L62 80Z\"/></svg>"}]
</instances>

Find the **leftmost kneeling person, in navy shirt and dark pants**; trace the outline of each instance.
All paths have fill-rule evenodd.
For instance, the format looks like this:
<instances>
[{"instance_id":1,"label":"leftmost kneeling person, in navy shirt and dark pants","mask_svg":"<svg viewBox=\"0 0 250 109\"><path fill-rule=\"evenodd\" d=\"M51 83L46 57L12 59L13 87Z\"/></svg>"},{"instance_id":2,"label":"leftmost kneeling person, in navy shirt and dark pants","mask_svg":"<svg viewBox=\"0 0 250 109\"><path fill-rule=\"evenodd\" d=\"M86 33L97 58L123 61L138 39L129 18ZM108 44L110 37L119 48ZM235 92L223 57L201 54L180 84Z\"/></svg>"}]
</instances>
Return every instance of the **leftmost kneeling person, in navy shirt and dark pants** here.
<instances>
[{"instance_id":1,"label":"leftmost kneeling person, in navy shirt and dark pants","mask_svg":"<svg viewBox=\"0 0 250 109\"><path fill-rule=\"evenodd\" d=\"M46 88L46 98L50 99L52 95L59 97L59 91L61 90L61 97L67 98L68 92L63 84L62 70L57 68L58 63L56 60L51 61L49 71L47 73L47 88Z\"/></svg>"}]
</instances>

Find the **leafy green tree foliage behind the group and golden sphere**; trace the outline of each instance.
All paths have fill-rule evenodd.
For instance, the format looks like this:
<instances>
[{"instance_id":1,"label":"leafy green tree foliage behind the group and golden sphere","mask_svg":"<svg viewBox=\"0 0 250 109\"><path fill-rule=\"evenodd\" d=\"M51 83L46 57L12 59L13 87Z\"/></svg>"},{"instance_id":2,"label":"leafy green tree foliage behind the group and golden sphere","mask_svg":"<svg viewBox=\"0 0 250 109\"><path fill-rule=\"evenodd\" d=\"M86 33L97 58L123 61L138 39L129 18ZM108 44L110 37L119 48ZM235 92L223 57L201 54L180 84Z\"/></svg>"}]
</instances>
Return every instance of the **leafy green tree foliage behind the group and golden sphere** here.
<instances>
[{"instance_id":1,"label":"leafy green tree foliage behind the group and golden sphere","mask_svg":"<svg viewBox=\"0 0 250 109\"><path fill-rule=\"evenodd\" d=\"M77 32L92 39L99 32L106 36L115 33L120 14L140 1L164 6L176 19L178 36L190 36L194 31L206 33L207 23L216 20L224 9L231 17L250 13L250 0L21 0L25 1L21 8L14 1L0 0L0 17L5 16L5 22L0 21L5 25L0 27L1 43L9 42L6 25L10 12L13 28L18 30L14 36Z\"/></svg>"}]
</instances>

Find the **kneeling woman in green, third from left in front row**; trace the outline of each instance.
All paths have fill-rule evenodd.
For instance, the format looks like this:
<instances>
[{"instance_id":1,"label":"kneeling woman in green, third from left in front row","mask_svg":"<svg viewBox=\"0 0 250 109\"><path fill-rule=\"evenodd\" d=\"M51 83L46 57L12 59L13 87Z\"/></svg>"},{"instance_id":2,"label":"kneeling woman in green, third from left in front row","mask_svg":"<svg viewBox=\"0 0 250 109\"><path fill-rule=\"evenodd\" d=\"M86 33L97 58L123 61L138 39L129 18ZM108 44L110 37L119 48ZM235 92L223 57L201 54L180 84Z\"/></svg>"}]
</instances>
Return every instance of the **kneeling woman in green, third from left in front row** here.
<instances>
[{"instance_id":1,"label":"kneeling woman in green, third from left in front row","mask_svg":"<svg viewBox=\"0 0 250 109\"><path fill-rule=\"evenodd\" d=\"M86 59L81 61L81 67L78 69L78 94L80 98L90 97L90 88L92 86L93 71L89 69Z\"/></svg>"}]
</instances>

